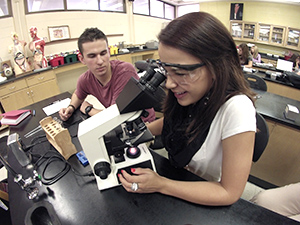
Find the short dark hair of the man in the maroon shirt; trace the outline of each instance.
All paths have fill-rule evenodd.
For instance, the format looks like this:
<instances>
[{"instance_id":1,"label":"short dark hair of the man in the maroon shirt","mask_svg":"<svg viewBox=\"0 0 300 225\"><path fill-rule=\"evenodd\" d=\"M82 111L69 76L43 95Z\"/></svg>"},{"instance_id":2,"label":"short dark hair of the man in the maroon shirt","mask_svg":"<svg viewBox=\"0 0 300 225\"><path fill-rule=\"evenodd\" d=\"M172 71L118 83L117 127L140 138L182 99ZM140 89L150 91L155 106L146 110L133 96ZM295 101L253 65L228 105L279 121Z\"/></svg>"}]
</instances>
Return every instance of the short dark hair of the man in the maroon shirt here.
<instances>
[{"instance_id":1,"label":"short dark hair of the man in the maroon shirt","mask_svg":"<svg viewBox=\"0 0 300 225\"><path fill-rule=\"evenodd\" d=\"M104 39L108 44L106 35L98 28L86 28L85 31L78 38L78 49L83 53L82 44L86 42L93 42L99 39Z\"/></svg>"}]
</instances>

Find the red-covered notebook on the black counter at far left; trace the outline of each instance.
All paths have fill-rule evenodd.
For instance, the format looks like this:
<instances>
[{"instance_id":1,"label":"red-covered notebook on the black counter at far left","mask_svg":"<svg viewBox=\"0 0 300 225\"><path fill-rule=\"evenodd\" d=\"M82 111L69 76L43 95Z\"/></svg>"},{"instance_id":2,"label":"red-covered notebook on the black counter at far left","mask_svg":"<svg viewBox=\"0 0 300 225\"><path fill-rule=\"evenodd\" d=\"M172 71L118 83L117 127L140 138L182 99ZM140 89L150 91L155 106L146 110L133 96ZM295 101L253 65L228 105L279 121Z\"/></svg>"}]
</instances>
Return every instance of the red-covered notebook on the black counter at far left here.
<instances>
[{"instance_id":1,"label":"red-covered notebook on the black counter at far left","mask_svg":"<svg viewBox=\"0 0 300 225\"><path fill-rule=\"evenodd\" d=\"M13 125L16 126L21 123L25 118L31 114L29 109L25 110L12 110L6 113L1 114L3 116L1 119L1 124L4 125Z\"/></svg>"}]
</instances>

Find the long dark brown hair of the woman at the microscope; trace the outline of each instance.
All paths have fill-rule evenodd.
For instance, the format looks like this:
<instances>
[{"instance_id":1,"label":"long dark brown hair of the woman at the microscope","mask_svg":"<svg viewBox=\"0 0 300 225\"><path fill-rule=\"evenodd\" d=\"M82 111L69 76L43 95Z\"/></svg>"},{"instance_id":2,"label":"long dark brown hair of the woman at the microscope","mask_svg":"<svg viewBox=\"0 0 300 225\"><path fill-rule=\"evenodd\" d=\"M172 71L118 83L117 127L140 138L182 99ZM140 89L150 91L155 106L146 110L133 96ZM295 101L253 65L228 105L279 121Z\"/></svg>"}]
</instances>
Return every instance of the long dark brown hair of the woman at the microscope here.
<instances>
[{"instance_id":1,"label":"long dark brown hair of the woman at the microscope","mask_svg":"<svg viewBox=\"0 0 300 225\"><path fill-rule=\"evenodd\" d=\"M189 13L171 21L163 29L160 43L180 49L204 62L215 80L204 106L199 100L193 106L194 119L185 128L191 142L205 129L217 111L230 97L243 93L254 103L254 93L244 78L236 45L225 26L215 17L204 12ZM178 125L186 116L185 107L178 104L169 91L164 104L164 117ZM176 126L175 126L176 127Z\"/></svg>"}]
</instances>

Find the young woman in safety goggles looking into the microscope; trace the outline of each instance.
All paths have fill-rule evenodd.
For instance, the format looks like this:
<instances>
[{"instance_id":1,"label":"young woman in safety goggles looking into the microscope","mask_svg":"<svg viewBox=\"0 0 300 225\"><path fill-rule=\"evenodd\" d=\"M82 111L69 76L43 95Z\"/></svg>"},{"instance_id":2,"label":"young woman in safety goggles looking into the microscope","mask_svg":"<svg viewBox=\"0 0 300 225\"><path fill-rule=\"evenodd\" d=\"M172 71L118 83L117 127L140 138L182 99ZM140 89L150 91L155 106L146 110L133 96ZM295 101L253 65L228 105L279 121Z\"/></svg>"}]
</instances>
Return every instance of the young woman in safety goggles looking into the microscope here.
<instances>
[{"instance_id":1,"label":"young woman in safety goggles looking into the microscope","mask_svg":"<svg viewBox=\"0 0 300 225\"><path fill-rule=\"evenodd\" d=\"M159 34L158 64L169 89L164 117L148 125L162 135L175 167L207 181L175 181L150 169L119 174L129 192L160 192L204 205L237 201L249 175L256 131L252 93L230 33L210 14L186 14Z\"/></svg>"}]
</instances>

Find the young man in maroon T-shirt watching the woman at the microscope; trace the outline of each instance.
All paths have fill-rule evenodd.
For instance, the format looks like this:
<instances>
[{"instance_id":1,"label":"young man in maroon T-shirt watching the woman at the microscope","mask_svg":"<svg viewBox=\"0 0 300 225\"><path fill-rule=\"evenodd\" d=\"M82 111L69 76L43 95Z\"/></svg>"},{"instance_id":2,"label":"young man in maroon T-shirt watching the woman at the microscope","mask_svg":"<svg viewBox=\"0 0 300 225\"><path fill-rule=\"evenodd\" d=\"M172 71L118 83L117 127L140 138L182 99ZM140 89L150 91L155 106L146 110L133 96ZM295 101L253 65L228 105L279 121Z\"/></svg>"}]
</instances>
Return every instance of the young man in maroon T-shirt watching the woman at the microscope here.
<instances>
[{"instance_id":1,"label":"young man in maroon T-shirt watching the woman at the microscope","mask_svg":"<svg viewBox=\"0 0 300 225\"><path fill-rule=\"evenodd\" d=\"M95 96L107 108L115 104L117 97L131 77L139 79L135 68L127 62L110 61L108 41L105 34L97 28L87 28L78 39L80 62L88 70L80 75L77 88L72 95L70 105L62 108L59 115L66 121L80 105L81 112L93 116L101 110L85 101L87 95ZM145 122L155 119L153 108L147 110Z\"/></svg>"}]
</instances>

